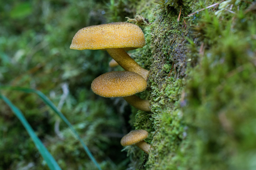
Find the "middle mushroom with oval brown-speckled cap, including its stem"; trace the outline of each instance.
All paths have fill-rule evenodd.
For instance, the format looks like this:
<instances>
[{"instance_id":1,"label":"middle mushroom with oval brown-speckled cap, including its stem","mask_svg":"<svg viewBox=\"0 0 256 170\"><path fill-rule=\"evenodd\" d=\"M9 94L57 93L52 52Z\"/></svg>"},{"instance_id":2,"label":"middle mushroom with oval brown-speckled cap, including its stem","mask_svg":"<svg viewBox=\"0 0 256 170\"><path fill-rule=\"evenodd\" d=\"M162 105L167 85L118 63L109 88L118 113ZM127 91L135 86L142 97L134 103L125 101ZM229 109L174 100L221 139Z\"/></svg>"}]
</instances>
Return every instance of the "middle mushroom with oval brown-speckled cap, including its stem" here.
<instances>
[{"instance_id":1,"label":"middle mushroom with oval brown-speckled cap, including its stem","mask_svg":"<svg viewBox=\"0 0 256 170\"><path fill-rule=\"evenodd\" d=\"M123 97L133 107L150 112L149 100L140 99L136 93L147 87L146 80L131 71L111 71L92 81L92 91L102 97Z\"/></svg>"}]
</instances>

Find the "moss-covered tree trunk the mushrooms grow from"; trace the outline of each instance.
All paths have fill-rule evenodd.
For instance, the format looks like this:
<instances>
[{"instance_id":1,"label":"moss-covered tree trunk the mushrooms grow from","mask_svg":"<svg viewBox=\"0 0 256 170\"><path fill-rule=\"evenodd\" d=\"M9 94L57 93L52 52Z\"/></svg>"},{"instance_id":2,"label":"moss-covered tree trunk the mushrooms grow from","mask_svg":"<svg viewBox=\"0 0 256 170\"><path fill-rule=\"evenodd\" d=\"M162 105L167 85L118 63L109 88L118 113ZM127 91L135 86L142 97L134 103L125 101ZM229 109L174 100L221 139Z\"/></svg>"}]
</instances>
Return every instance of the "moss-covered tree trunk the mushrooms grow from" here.
<instances>
[{"instance_id":1,"label":"moss-covered tree trunk the mushrooms grow from","mask_svg":"<svg viewBox=\"0 0 256 170\"><path fill-rule=\"evenodd\" d=\"M151 71L140 169L256 168L255 2L218 2L140 1L129 19L147 42L132 57Z\"/></svg>"}]
</instances>

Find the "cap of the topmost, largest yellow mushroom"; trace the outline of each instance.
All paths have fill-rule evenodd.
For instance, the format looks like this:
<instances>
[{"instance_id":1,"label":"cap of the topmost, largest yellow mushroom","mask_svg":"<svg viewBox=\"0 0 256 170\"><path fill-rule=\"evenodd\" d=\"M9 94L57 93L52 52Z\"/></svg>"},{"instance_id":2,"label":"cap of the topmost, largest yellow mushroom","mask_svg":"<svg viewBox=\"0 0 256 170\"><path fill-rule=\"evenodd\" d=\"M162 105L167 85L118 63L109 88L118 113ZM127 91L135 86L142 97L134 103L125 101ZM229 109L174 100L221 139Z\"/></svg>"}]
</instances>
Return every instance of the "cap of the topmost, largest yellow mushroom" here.
<instances>
[{"instance_id":1,"label":"cap of the topmost, largest yellow mushroom","mask_svg":"<svg viewBox=\"0 0 256 170\"><path fill-rule=\"evenodd\" d=\"M80 29L73 37L70 49L142 48L145 43L139 26L115 22Z\"/></svg>"}]
</instances>

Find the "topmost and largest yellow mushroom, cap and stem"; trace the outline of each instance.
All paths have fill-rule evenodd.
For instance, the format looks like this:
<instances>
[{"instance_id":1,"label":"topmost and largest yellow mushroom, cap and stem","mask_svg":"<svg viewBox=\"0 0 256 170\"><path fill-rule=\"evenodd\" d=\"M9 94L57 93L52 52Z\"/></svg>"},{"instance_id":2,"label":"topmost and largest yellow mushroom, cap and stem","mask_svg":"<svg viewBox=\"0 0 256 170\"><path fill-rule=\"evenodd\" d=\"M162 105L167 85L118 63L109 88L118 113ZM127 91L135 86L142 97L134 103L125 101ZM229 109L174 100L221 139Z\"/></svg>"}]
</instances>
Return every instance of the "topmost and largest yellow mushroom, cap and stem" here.
<instances>
[{"instance_id":1,"label":"topmost and largest yellow mushroom, cap and stem","mask_svg":"<svg viewBox=\"0 0 256 170\"><path fill-rule=\"evenodd\" d=\"M145 43L144 34L139 26L116 22L80 29L73 37L70 49L106 49L124 70L135 72L147 79L149 71L142 68L124 51L142 48Z\"/></svg>"}]
</instances>

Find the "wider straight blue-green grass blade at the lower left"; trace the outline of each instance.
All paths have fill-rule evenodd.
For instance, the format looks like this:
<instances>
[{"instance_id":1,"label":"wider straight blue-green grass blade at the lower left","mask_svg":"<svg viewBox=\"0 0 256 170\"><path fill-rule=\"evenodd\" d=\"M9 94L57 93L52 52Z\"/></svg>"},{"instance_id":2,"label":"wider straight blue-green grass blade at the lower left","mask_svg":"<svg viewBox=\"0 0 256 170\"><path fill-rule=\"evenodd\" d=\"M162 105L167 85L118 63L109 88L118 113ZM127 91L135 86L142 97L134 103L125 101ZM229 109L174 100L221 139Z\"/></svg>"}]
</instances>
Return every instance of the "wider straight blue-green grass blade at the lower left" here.
<instances>
[{"instance_id":1,"label":"wider straight blue-green grass blade at the lower left","mask_svg":"<svg viewBox=\"0 0 256 170\"><path fill-rule=\"evenodd\" d=\"M3 99L4 102L12 109L12 112L18 117L20 122L23 124L25 129L27 130L29 136L32 138L33 142L36 145L36 148L38 151L41 153L42 157L46 161L48 167L51 170L61 170L60 166L56 162L56 160L52 157L52 155L48 152L48 150L44 147L40 139L36 136L34 130L32 127L29 125L28 121L24 117L24 115L21 113L20 109L18 109L16 106L12 104L10 100L8 100L5 96L3 96L0 93L0 99Z\"/></svg>"}]
</instances>

